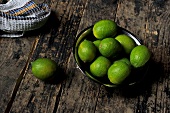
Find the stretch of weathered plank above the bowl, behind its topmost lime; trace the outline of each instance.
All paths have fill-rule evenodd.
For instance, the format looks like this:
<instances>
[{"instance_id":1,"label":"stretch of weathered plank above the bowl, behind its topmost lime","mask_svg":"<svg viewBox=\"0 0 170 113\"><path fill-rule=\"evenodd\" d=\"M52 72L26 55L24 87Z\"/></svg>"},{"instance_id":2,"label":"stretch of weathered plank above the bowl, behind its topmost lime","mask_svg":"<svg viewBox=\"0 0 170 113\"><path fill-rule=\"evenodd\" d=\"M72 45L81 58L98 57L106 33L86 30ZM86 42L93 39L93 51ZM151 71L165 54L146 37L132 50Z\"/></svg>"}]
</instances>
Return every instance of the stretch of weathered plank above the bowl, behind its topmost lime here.
<instances>
[{"instance_id":1,"label":"stretch of weathered plank above the bowl, behind its topmost lime","mask_svg":"<svg viewBox=\"0 0 170 113\"><path fill-rule=\"evenodd\" d=\"M116 0L88 1L78 33L101 19L115 20L116 10Z\"/></svg>"}]
</instances>

